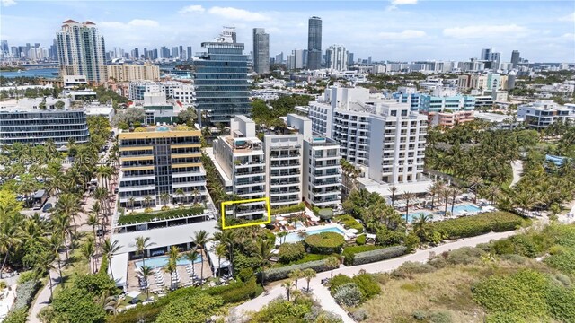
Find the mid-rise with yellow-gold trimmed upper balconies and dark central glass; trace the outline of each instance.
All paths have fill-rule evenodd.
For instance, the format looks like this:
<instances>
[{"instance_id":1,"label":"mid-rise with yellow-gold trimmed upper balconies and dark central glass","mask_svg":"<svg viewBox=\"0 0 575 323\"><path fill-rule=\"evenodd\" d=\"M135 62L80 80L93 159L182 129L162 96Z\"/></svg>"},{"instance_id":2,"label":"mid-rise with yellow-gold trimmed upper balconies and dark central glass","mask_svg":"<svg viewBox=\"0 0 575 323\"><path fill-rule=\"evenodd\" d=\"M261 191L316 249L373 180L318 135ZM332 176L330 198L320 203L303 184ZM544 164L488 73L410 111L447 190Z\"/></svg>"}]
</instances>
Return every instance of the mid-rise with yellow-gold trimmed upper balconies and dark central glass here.
<instances>
[{"instance_id":1,"label":"mid-rise with yellow-gold trimmed upper balconies and dark central glass","mask_svg":"<svg viewBox=\"0 0 575 323\"><path fill-rule=\"evenodd\" d=\"M208 194L200 157L199 130L147 127L120 132L119 205L155 207L170 202L200 203Z\"/></svg>"}]
</instances>

